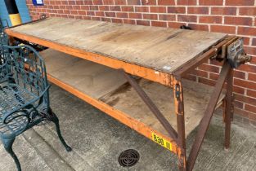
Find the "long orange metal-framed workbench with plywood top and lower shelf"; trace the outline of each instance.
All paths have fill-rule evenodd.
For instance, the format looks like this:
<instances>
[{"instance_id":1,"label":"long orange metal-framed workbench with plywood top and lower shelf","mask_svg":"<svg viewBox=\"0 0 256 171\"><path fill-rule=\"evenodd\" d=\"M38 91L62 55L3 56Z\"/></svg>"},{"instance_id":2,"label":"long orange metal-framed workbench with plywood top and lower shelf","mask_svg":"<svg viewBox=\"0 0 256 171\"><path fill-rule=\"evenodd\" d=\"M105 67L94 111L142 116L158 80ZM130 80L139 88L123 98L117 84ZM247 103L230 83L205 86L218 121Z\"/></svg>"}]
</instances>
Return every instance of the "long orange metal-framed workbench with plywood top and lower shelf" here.
<instances>
[{"instance_id":1,"label":"long orange metal-framed workbench with plywood top and lower shelf","mask_svg":"<svg viewBox=\"0 0 256 171\"><path fill-rule=\"evenodd\" d=\"M222 105L229 147L233 68L227 46L238 37L64 18L5 31L49 47L41 52L49 81L177 154L181 170L193 169L213 112ZM224 62L215 87L183 78L219 56ZM186 136L197 126L186 157Z\"/></svg>"}]
</instances>

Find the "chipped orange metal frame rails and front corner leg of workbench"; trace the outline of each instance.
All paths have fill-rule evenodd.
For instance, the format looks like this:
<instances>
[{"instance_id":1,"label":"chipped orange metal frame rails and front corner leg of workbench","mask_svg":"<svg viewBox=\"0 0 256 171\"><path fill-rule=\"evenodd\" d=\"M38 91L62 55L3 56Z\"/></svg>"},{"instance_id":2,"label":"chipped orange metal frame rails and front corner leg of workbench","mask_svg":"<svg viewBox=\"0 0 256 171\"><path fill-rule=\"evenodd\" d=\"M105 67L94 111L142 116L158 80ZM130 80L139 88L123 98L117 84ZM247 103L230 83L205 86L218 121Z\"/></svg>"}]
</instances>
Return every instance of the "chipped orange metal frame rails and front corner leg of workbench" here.
<instances>
[{"instance_id":1,"label":"chipped orange metal frame rails and front corner leg of workbench","mask_svg":"<svg viewBox=\"0 0 256 171\"><path fill-rule=\"evenodd\" d=\"M6 29L5 32L10 37L16 37L21 40L25 40L28 42L34 42L41 46L47 46L54 50L59 50L61 52L64 52L69 55L74 55L76 57L87 59L92 62L95 62L97 64L106 65L110 68L115 69L123 69L125 72L128 72L132 75L143 77L145 79L148 79L150 81L159 82L162 85L168 85L170 87L173 87L173 95L174 95L174 103L176 108L176 114L177 114L177 142L174 141L172 138L169 138L165 136L164 134L161 134L154 129L151 129L148 125L145 125L141 123L140 121L135 120L134 118L131 118L126 113L121 112L114 107L111 107L110 105L103 103L97 99L93 99L92 97L88 96L87 94L83 94L81 91L74 89L74 87L65 84L63 81L58 80L55 77L52 77L51 75L48 75L48 80L52 83L60 86L64 90L69 91L71 94L74 94L79 99L83 99L87 103L92 104L92 106L97 107L102 112L106 112L106 114L114 117L116 120L120 121L124 125L128 125L131 129L136 130L138 133L144 135L146 138L152 139L152 132L155 132L156 134L159 134L159 136L167 139L169 142L172 143L172 150L173 153L177 154L179 159L179 168L180 170L188 170L187 169L187 160L186 160L186 137L185 137L185 121L184 121L184 103L183 103L183 93L182 93L182 83L181 78L184 75L185 72L191 71L191 68L197 67L199 64L202 64L206 59L209 59L213 55L218 55L219 51L222 49L222 46L227 43L231 38L229 37L222 42L219 42L217 46L215 46L213 49L210 49L209 51L205 52L203 55L199 56L195 61L192 61L191 64L187 64L184 66L184 68L181 68L178 70L176 74L173 73L173 75L166 73L166 72L160 72L155 71L152 68L146 68L142 66L138 66L136 64L130 64L124 61L120 61L118 59L113 59L107 56L93 54L91 52L87 52L84 50L80 50L71 46L65 46L62 44L58 44L56 42L49 42L47 40L44 40L42 38L33 37L29 35L25 35L22 33L16 33L12 31L11 29ZM182 71L183 69L183 71ZM179 96L177 98L177 89L176 87L179 87ZM231 92L229 92L231 94ZM230 103L231 105L231 103ZM227 134L230 130L227 130ZM195 157L196 158L196 157ZM191 167L191 169L193 166ZM190 169L190 170L191 170Z\"/></svg>"}]
</instances>

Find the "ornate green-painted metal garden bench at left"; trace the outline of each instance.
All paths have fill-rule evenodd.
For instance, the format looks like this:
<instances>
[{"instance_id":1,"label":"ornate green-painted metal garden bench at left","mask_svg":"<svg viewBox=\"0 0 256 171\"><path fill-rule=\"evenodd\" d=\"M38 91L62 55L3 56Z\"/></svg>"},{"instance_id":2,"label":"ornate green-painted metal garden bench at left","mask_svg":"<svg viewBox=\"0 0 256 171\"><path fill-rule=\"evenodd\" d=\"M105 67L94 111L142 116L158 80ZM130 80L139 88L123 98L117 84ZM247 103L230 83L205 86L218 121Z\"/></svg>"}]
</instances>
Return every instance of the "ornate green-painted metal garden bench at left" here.
<instances>
[{"instance_id":1,"label":"ornate green-painted metal garden bench at left","mask_svg":"<svg viewBox=\"0 0 256 171\"><path fill-rule=\"evenodd\" d=\"M54 122L66 150L72 149L62 138L59 120L50 107L43 58L31 46L8 46L5 38L2 36L0 44L0 138L20 171L12 143L34 125Z\"/></svg>"}]
</instances>

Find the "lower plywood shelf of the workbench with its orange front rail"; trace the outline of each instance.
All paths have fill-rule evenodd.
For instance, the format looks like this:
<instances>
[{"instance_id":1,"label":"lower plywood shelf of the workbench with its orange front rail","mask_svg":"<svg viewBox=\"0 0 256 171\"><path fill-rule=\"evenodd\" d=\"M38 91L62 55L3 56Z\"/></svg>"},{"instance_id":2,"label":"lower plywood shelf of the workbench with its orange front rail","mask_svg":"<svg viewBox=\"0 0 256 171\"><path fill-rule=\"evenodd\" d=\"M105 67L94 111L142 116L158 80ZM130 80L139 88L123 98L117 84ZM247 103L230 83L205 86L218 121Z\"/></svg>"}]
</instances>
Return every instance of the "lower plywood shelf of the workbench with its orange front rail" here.
<instances>
[{"instance_id":1,"label":"lower plywood shelf of the workbench with its orange front rail","mask_svg":"<svg viewBox=\"0 0 256 171\"><path fill-rule=\"evenodd\" d=\"M119 71L56 50L44 50L41 55L46 62L49 81L91 103L147 138L152 139L154 132L172 142L164 127ZM137 81L173 128L177 129L173 90L142 78ZM182 85L187 136L199 125L213 87L187 80L182 80ZM218 107L223 98L224 94L218 101ZM171 151L175 152L174 147Z\"/></svg>"}]
</instances>

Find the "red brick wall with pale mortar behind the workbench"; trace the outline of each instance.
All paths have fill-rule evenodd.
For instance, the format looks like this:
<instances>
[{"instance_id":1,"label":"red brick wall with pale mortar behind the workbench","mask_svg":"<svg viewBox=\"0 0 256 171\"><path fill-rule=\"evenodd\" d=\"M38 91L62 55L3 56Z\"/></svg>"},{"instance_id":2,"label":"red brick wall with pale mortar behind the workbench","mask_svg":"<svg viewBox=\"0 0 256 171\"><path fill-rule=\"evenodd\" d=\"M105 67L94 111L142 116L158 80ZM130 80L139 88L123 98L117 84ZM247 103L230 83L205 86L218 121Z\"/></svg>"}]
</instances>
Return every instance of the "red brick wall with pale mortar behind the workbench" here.
<instances>
[{"instance_id":1,"label":"red brick wall with pale mortar behind the workbench","mask_svg":"<svg viewBox=\"0 0 256 171\"><path fill-rule=\"evenodd\" d=\"M235 109L249 120L256 121L256 0L44 0L45 6L34 7L27 0L30 15L101 20L124 24L141 24L236 34L244 37L251 63L236 69L234 78ZM184 45L186 46L186 45ZM209 61L189 77L213 85L220 64Z\"/></svg>"}]
</instances>

